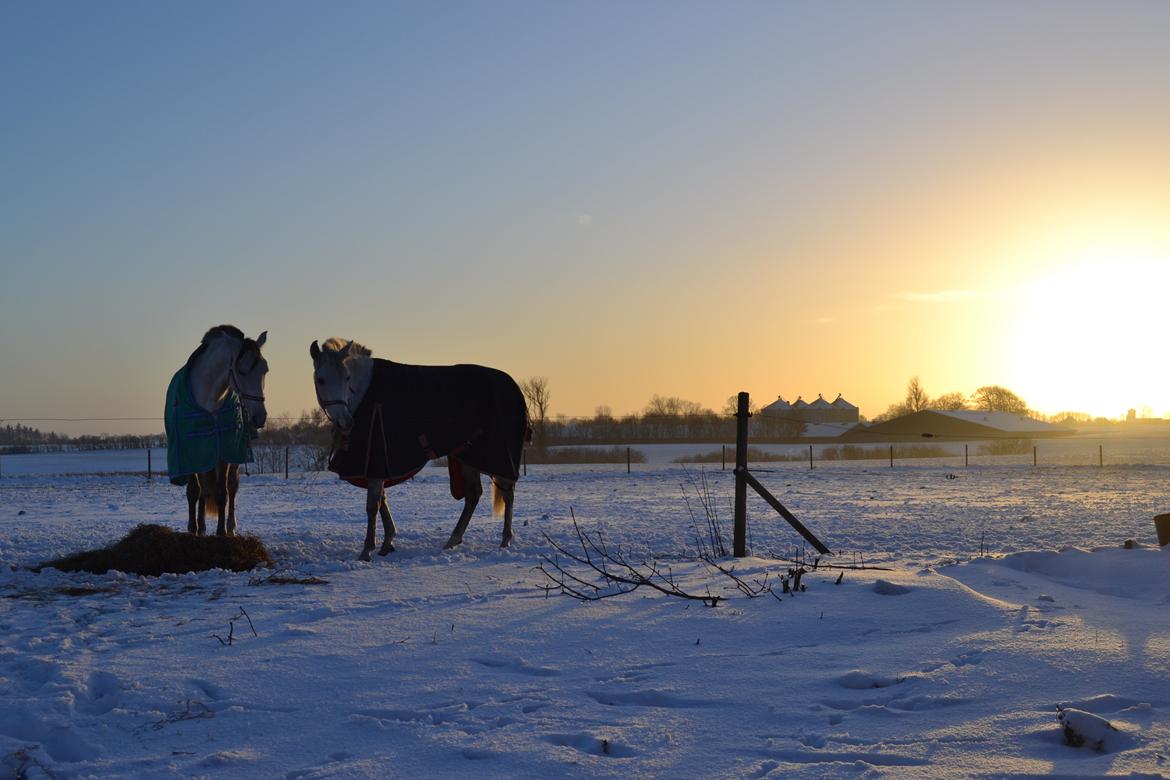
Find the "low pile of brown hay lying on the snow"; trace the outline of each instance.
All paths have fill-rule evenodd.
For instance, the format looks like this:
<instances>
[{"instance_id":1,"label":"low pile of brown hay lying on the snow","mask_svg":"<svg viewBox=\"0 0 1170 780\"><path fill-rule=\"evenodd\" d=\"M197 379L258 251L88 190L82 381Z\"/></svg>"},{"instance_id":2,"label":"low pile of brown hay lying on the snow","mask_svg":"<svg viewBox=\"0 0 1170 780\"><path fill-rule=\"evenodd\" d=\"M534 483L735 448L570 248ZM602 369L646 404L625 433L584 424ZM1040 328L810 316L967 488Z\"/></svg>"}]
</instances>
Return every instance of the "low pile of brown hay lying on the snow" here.
<instances>
[{"instance_id":1,"label":"low pile of brown hay lying on the snow","mask_svg":"<svg viewBox=\"0 0 1170 780\"><path fill-rule=\"evenodd\" d=\"M273 559L256 537L197 537L192 533L176 533L163 525L139 525L122 541L109 547L57 558L46 561L42 567L94 574L115 570L158 577L164 573L205 572L209 568L247 572L261 564L271 566Z\"/></svg>"}]
</instances>

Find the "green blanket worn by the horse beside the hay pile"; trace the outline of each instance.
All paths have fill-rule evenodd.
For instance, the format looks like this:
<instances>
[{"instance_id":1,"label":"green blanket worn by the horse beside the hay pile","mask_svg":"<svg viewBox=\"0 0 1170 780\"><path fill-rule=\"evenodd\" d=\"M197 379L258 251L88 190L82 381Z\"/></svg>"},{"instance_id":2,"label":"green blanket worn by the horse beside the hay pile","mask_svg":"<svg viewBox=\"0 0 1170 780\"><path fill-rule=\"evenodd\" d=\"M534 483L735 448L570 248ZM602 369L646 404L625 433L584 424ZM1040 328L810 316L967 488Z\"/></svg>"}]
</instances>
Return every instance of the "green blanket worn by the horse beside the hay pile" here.
<instances>
[{"instance_id":1,"label":"green blanket worn by the horse beside the hay pile","mask_svg":"<svg viewBox=\"0 0 1170 780\"><path fill-rule=\"evenodd\" d=\"M220 461L252 463L250 441L255 436L243 422L240 398L228 392L216 412L195 403L187 384L187 366L179 370L166 388L166 471L171 482L187 484L192 474L209 471Z\"/></svg>"}]
</instances>

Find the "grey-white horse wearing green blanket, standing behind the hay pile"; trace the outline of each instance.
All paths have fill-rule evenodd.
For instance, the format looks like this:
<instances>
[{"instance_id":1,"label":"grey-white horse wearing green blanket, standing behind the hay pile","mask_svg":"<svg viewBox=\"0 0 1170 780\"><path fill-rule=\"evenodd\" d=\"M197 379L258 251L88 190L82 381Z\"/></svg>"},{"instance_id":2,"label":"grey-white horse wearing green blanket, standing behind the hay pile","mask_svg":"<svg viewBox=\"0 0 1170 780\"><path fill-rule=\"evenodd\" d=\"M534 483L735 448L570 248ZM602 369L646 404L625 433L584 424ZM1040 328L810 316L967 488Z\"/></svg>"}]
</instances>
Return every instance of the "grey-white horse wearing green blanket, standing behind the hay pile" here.
<instances>
[{"instance_id":1,"label":"grey-white horse wearing green blanket, standing behind the hay pile","mask_svg":"<svg viewBox=\"0 0 1170 780\"><path fill-rule=\"evenodd\" d=\"M215 512L218 536L235 536L240 463L252 461L249 441L264 427L268 361L256 339L233 325L204 334L167 391L167 467L171 482L187 485L187 531L206 532Z\"/></svg>"}]
</instances>

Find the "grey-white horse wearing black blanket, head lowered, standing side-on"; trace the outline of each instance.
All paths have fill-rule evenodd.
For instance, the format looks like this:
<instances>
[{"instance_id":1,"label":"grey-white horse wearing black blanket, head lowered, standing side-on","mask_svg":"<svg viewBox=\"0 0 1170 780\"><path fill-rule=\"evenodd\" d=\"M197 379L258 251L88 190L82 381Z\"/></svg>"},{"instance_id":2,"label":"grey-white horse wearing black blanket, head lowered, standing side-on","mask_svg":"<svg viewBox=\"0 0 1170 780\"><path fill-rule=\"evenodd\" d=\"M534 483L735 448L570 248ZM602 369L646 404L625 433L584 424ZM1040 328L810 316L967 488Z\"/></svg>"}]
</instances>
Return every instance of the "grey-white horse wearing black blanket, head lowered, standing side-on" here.
<instances>
[{"instance_id":1,"label":"grey-white horse wearing black blanket, head lowered, standing side-on","mask_svg":"<svg viewBox=\"0 0 1170 780\"><path fill-rule=\"evenodd\" d=\"M512 504L521 453L531 440L524 396L511 377L483 366L412 366L371 357L355 341L331 338L309 347L317 402L342 442L329 468L366 489L366 537L359 558L370 560L380 515L379 555L394 551L398 532L386 485L413 477L427 461L447 456L452 496L463 511L443 548L463 541L491 477L493 509L503 515L501 547L512 540Z\"/></svg>"}]
</instances>

